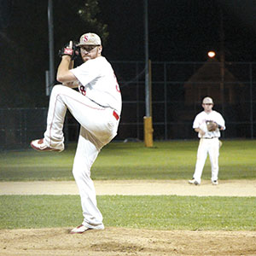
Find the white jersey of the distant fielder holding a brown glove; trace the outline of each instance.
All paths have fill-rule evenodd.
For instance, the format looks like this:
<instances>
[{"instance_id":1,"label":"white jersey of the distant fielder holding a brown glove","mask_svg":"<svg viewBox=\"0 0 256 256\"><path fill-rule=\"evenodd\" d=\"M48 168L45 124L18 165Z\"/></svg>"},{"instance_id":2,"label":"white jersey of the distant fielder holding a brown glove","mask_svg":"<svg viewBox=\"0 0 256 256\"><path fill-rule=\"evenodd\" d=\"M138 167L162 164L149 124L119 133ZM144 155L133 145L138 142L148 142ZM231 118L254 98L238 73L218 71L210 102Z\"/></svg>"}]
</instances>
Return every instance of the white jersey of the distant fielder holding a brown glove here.
<instances>
[{"instance_id":1,"label":"white jersey of the distant fielder holding a brown glove","mask_svg":"<svg viewBox=\"0 0 256 256\"><path fill-rule=\"evenodd\" d=\"M218 125L224 127L225 130L225 121L220 113L215 110L212 110L210 113L202 111L195 116L195 120L193 123L193 128L200 128L206 134L203 137L211 138L211 137L220 137L220 132L217 129L216 131L207 131L207 121L214 121ZM198 137L202 137L200 132L198 132Z\"/></svg>"}]
</instances>

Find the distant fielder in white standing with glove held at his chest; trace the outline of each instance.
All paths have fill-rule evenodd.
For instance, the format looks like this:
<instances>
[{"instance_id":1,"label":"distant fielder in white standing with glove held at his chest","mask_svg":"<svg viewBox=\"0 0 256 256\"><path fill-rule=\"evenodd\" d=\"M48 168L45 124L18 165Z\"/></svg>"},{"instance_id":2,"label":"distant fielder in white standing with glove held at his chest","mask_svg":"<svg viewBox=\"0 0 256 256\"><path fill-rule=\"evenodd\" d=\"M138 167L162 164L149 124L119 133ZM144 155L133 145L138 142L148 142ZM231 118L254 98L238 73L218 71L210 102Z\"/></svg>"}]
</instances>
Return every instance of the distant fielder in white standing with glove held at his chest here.
<instances>
[{"instance_id":1,"label":"distant fielder in white standing with glove held at his chest","mask_svg":"<svg viewBox=\"0 0 256 256\"><path fill-rule=\"evenodd\" d=\"M195 116L193 128L198 132L200 142L197 150L195 173L192 180L189 180L190 184L199 185L201 183L201 174L207 160L207 154L209 154L212 166L212 184L218 185L218 155L220 147L218 137L220 137L220 131L225 130L225 122L222 115L212 110L212 107L212 98L205 97L202 101L204 111ZM214 128L207 127L208 121L212 121L215 124Z\"/></svg>"}]
</instances>

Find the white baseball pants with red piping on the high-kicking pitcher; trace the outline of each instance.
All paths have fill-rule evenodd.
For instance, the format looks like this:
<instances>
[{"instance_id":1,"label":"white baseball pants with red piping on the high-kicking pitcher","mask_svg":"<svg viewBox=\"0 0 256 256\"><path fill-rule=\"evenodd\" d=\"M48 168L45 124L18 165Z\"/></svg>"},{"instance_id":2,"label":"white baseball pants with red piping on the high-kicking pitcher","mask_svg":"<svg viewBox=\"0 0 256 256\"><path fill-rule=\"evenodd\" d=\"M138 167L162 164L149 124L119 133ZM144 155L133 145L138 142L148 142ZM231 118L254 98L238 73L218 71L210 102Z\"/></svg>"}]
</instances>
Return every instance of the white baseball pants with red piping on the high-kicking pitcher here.
<instances>
[{"instance_id":1,"label":"white baseball pants with red piping on the high-kicking pitcher","mask_svg":"<svg viewBox=\"0 0 256 256\"><path fill-rule=\"evenodd\" d=\"M47 130L44 133L44 143L50 147L64 147L62 128L67 108L81 125L73 162L73 177L79 187L83 224L91 229L103 229L102 213L96 205L96 191L90 178L90 167L101 148L116 136L119 116L117 113L113 114L112 108L102 108L76 90L55 85L49 100Z\"/></svg>"}]
</instances>

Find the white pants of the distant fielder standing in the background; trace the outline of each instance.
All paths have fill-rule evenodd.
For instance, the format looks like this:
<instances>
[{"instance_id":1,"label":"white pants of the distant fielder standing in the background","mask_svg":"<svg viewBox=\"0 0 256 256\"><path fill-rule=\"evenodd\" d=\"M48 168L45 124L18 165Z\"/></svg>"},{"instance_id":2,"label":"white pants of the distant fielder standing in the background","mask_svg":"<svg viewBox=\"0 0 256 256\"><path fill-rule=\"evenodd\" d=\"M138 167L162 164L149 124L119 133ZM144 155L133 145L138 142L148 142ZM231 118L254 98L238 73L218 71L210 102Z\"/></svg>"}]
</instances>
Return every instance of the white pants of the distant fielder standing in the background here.
<instances>
[{"instance_id":1,"label":"white pants of the distant fielder standing in the background","mask_svg":"<svg viewBox=\"0 0 256 256\"><path fill-rule=\"evenodd\" d=\"M201 138L197 149L197 159L195 164L195 173L193 177L198 183L201 183L201 174L209 154L212 166L212 181L218 180L218 155L219 141L218 137L212 139Z\"/></svg>"}]
</instances>

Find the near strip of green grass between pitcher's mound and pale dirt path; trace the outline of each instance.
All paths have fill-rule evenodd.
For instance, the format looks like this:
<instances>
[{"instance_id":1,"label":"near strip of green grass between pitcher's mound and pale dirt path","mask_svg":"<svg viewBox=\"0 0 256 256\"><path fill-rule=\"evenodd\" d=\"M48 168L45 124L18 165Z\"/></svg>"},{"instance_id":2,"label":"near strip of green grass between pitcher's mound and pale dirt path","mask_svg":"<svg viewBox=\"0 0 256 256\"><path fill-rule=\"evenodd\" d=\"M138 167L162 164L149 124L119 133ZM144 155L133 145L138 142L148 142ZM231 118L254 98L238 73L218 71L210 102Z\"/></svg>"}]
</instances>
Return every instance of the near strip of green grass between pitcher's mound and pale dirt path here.
<instances>
[{"instance_id":1,"label":"near strip of green grass between pitcher's mound and pale dirt path","mask_svg":"<svg viewBox=\"0 0 256 256\"><path fill-rule=\"evenodd\" d=\"M256 230L255 198L97 197L104 224L154 230ZM1 195L0 229L73 227L82 222L78 195Z\"/></svg>"}]
</instances>

